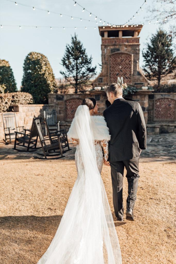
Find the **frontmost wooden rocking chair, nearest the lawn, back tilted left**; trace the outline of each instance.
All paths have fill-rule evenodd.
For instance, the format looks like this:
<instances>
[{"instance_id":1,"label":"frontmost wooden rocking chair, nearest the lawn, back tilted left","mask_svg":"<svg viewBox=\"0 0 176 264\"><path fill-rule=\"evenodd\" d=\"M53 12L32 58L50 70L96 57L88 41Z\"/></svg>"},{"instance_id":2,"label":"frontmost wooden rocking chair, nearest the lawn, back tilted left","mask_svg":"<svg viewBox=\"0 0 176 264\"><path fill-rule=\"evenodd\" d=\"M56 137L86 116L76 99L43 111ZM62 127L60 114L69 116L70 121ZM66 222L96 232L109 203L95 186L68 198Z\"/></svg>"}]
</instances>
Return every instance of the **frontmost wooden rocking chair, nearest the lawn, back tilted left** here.
<instances>
[{"instance_id":1,"label":"frontmost wooden rocking chair, nearest the lawn, back tilted left","mask_svg":"<svg viewBox=\"0 0 176 264\"><path fill-rule=\"evenodd\" d=\"M61 142L60 135L58 135L55 138L53 138L53 139L56 140L54 143L50 142L51 144L46 144L45 140L50 140L50 138L49 138L49 136L44 138L39 119L35 120L35 125L36 125L36 129L37 129L37 133L39 135L41 147L42 147L42 150L43 150L43 154L39 154L39 153L38 154L44 156L45 159L47 159L47 156L56 156L56 155L61 155L61 156L60 157L55 157L53 159L59 159L59 158L65 157L63 155L64 150L63 150L63 145L62 145L62 142ZM40 158L40 157L35 156L35 158Z\"/></svg>"}]
</instances>

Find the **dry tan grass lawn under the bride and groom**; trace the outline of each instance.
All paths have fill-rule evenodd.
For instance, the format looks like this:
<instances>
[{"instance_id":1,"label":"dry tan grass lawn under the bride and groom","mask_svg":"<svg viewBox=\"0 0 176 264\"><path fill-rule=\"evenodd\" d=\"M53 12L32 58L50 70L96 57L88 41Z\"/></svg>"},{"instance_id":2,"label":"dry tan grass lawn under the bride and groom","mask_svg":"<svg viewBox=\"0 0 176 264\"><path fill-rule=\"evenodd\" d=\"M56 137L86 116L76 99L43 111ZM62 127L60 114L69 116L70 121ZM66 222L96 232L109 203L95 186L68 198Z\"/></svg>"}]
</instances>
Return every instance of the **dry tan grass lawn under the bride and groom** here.
<instances>
[{"instance_id":1,"label":"dry tan grass lawn under the bride and groom","mask_svg":"<svg viewBox=\"0 0 176 264\"><path fill-rule=\"evenodd\" d=\"M110 168L102 178L123 264L175 262L175 163L140 162L135 221L117 222ZM74 160L0 160L0 263L32 264L48 248L77 177ZM124 177L124 201L127 179Z\"/></svg>"}]
</instances>

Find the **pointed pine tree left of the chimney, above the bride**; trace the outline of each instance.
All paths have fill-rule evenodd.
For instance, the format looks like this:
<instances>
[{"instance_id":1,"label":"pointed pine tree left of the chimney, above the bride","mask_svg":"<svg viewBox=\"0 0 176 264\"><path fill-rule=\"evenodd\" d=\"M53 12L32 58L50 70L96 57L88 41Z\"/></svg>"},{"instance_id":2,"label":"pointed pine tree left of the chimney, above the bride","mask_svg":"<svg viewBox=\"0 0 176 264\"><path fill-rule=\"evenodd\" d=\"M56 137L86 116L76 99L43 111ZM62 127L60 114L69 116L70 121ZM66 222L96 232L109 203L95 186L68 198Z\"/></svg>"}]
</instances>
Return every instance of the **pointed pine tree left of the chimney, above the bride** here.
<instances>
[{"instance_id":1,"label":"pointed pine tree left of the chimney, above the bride","mask_svg":"<svg viewBox=\"0 0 176 264\"><path fill-rule=\"evenodd\" d=\"M96 66L92 67L92 56L88 58L76 34L72 36L71 44L66 45L61 61L65 71L60 71L60 73L75 88L75 93L82 91L83 86L87 86L87 82L96 74Z\"/></svg>"}]
</instances>

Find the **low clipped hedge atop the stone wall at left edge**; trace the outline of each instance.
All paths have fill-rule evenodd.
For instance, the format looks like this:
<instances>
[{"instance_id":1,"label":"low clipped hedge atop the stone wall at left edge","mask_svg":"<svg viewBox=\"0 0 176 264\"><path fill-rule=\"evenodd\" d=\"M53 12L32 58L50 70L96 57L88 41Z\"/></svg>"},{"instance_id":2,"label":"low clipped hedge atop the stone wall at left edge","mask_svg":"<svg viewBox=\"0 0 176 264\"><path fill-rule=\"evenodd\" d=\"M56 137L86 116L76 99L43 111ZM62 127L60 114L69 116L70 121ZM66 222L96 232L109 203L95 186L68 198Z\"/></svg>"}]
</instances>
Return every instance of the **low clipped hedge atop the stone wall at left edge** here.
<instances>
[{"instance_id":1,"label":"low clipped hedge atop the stone wall at left edge","mask_svg":"<svg viewBox=\"0 0 176 264\"><path fill-rule=\"evenodd\" d=\"M0 94L0 112L13 111L13 105L27 105L33 103L30 93L2 93Z\"/></svg>"}]
</instances>

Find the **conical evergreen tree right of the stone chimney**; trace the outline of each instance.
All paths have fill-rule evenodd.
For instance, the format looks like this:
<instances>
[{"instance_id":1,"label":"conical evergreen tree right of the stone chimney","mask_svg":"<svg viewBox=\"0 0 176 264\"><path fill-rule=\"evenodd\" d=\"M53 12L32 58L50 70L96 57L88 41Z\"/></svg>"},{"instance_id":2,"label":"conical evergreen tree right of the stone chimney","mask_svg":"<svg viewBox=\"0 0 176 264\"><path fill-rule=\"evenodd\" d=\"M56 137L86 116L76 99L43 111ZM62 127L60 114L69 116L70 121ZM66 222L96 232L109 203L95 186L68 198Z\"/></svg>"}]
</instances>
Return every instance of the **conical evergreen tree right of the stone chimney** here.
<instances>
[{"instance_id":1,"label":"conical evergreen tree right of the stone chimney","mask_svg":"<svg viewBox=\"0 0 176 264\"><path fill-rule=\"evenodd\" d=\"M152 35L146 50L142 51L144 57L143 70L150 80L157 79L160 87L161 78L176 69L176 57L172 48L172 36L159 29Z\"/></svg>"}]
</instances>

